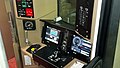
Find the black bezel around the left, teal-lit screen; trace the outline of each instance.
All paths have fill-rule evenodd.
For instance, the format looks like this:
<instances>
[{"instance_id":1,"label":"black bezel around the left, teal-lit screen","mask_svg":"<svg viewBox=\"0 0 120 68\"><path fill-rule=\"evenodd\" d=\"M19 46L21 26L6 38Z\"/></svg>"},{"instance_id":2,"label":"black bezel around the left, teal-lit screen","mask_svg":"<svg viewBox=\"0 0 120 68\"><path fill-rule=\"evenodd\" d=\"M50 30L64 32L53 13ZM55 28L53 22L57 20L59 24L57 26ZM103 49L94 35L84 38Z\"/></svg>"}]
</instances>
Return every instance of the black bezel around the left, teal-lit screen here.
<instances>
[{"instance_id":1,"label":"black bezel around the left, teal-lit screen","mask_svg":"<svg viewBox=\"0 0 120 68\"><path fill-rule=\"evenodd\" d=\"M54 23L49 23L49 22L44 22L44 23L45 23L45 24L44 24L44 26L43 26L43 31L42 31L42 43L43 43L43 44L46 44L46 45L48 45L48 46L51 46L51 45L61 45L64 29L61 28L61 27L59 27L59 26L57 26L57 25L55 25ZM51 28L54 28L54 29L57 29L57 30L60 30L58 44L56 44L56 43L54 43L54 42L51 42L51 41L45 39L47 26L48 26L48 27L51 27Z\"/></svg>"}]
</instances>

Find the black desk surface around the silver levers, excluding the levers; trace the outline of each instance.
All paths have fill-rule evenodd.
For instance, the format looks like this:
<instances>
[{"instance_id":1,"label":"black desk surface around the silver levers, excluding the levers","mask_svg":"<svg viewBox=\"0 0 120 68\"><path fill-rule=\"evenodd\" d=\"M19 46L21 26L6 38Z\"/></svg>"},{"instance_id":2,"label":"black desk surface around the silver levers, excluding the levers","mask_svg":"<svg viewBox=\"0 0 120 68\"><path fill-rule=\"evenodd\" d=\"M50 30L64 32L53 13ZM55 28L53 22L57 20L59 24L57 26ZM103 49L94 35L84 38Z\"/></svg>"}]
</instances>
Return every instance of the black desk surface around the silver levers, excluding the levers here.
<instances>
[{"instance_id":1,"label":"black desk surface around the silver levers, excluding the levers","mask_svg":"<svg viewBox=\"0 0 120 68\"><path fill-rule=\"evenodd\" d=\"M57 51L57 48L55 46L47 46L37 51L34 55L57 68L63 68L65 65L67 65L70 61L73 60L72 56L59 53L57 58L60 58L60 60L52 61L48 57L53 55L55 51Z\"/></svg>"}]
</instances>

